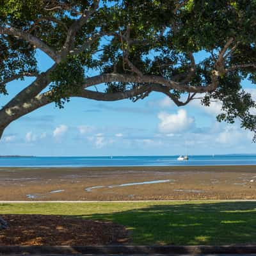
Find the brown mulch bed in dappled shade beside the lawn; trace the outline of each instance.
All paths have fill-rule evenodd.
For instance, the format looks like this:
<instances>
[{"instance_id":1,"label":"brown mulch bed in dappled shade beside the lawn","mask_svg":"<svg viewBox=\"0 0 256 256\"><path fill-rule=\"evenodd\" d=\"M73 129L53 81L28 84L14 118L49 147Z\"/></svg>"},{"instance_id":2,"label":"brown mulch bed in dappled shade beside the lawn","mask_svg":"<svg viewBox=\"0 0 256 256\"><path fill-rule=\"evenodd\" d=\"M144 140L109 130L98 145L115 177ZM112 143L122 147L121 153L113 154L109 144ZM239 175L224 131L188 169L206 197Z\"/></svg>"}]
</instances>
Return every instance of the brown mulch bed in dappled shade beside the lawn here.
<instances>
[{"instance_id":1,"label":"brown mulch bed in dappled shade beside the lawn","mask_svg":"<svg viewBox=\"0 0 256 256\"><path fill-rule=\"evenodd\" d=\"M124 226L107 221L56 215L1 215L9 227L0 230L2 245L108 245L126 244Z\"/></svg>"}]
</instances>

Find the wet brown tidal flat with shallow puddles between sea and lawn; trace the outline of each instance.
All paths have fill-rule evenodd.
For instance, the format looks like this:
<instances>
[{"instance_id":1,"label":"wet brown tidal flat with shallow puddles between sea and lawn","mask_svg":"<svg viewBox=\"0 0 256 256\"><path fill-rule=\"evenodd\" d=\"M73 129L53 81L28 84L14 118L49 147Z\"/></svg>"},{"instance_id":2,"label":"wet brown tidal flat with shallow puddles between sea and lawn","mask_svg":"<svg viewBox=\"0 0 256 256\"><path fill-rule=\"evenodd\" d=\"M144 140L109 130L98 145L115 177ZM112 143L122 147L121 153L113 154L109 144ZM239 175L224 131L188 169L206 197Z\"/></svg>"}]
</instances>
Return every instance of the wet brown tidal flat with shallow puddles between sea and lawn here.
<instances>
[{"instance_id":1,"label":"wet brown tidal flat with shallow puddles between sea and lawn","mask_svg":"<svg viewBox=\"0 0 256 256\"><path fill-rule=\"evenodd\" d=\"M0 200L256 199L256 166L0 168Z\"/></svg>"}]
</instances>

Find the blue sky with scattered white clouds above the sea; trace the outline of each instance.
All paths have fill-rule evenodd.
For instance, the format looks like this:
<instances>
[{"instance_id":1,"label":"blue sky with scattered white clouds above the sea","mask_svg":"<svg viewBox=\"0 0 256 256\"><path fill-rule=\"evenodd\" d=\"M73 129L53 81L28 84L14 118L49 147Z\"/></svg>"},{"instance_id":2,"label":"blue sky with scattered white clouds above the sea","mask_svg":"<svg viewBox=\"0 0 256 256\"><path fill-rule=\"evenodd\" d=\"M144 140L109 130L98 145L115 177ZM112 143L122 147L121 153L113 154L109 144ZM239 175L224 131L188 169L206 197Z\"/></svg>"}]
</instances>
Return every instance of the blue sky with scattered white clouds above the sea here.
<instances>
[{"instance_id":1,"label":"blue sky with scattered white clouds above the sea","mask_svg":"<svg viewBox=\"0 0 256 256\"><path fill-rule=\"evenodd\" d=\"M52 61L37 52L40 70ZM196 60L204 57L197 54ZM13 81L3 106L33 79ZM248 81L244 88L256 98ZM200 101L177 108L161 93L138 102L97 102L71 99L64 109L54 104L37 109L10 124L0 141L1 155L145 156L179 154L255 153L252 132L216 122L220 102L203 107ZM255 109L252 109L256 113Z\"/></svg>"}]
</instances>

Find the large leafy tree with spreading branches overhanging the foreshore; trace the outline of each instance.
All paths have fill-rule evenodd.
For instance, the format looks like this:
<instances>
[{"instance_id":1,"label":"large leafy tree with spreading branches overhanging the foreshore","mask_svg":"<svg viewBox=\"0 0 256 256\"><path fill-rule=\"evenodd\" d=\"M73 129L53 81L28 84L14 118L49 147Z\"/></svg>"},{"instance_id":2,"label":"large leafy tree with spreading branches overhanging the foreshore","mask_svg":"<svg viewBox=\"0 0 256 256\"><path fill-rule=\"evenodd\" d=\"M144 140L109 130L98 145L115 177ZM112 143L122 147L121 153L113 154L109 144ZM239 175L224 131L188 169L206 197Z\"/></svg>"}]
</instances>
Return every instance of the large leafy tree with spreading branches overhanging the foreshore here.
<instances>
[{"instance_id":1,"label":"large leafy tree with spreading branches overhanging the foreshore","mask_svg":"<svg viewBox=\"0 0 256 256\"><path fill-rule=\"evenodd\" d=\"M51 102L136 101L152 92L177 106L220 100L218 120L255 131L255 102L241 86L256 82L255 26L255 0L0 0L1 97L6 83L35 77L0 109L0 138ZM54 61L45 72L36 51Z\"/></svg>"}]
</instances>

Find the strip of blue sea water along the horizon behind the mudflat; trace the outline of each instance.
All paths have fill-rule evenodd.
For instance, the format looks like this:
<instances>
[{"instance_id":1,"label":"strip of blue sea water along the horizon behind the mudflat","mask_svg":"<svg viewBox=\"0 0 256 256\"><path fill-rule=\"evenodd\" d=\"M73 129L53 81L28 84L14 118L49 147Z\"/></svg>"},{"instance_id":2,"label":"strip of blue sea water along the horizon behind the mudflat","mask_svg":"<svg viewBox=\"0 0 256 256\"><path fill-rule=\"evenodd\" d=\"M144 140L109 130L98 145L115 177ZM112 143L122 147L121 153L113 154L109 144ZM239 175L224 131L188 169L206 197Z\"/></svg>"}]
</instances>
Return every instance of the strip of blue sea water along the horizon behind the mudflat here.
<instances>
[{"instance_id":1,"label":"strip of blue sea water along the horizon behind the mudflat","mask_svg":"<svg viewBox=\"0 0 256 256\"><path fill-rule=\"evenodd\" d=\"M188 161L177 161L177 157L178 156L0 157L0 167L204 166L256 164L256 154L189 156Z\"/></svg>"}]
</instances>

